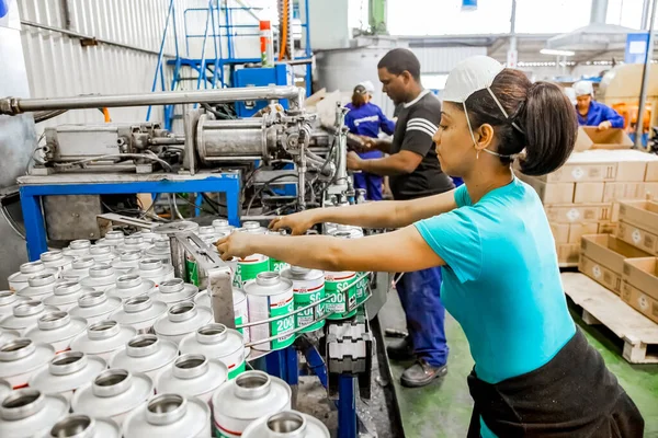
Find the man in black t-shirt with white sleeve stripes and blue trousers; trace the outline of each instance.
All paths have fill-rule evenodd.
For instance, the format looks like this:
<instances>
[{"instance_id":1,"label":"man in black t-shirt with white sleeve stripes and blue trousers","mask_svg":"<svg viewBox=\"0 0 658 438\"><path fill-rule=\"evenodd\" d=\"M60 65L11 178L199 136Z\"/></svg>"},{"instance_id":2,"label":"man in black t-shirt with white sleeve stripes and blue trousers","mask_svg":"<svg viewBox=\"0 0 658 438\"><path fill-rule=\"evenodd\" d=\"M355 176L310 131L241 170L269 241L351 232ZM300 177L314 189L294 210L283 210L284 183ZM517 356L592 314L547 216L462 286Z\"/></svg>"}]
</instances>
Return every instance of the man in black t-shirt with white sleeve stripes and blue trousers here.
<instances>
[{"instance_id":1,"label":"man in black t-shirt with white sleeve stripes and blue trousers","mask_svg":"<svg viewBox=\"0 0 658 438\"><path fill-rule=\"evenodd\" d=\"M393 141L366 139L388 157L363 160L348 154L351 170L389 176L396 200L436 195L454 187L450 176L441 171L432 137L441 119L441 102L420 83L420 62L412 51L396 48L377 65L383 91L400 105ZM374 255L373 255L374 256ZM397 290L407 316L407 336L398 345L389 345L392 359L416 357L416 364L401 377L407 387L422 387L447 372L447 345L441 303L441 268L433 267L405 273Z\"/></svg>"}]
</instances>

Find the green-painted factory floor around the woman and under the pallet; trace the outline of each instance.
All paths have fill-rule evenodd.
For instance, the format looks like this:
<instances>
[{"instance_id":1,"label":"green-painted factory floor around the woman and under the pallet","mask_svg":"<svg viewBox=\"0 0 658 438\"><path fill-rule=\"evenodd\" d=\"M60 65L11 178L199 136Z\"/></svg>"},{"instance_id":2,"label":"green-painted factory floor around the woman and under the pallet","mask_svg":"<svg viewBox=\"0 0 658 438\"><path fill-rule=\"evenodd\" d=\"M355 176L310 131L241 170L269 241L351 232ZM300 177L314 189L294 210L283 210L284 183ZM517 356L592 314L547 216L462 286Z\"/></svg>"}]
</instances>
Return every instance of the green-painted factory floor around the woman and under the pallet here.
<instances>
[{"instance_id":1,"label":"green-painted factory floor around the woman and under the pallet","mask_svg":"<svg viewBox=\"0 0 658 438\"><path fill-rule=\"evenodd\" d=\"M632 365L622 357L622 343L602 326L585 325L572 307L575 321L583 328L588 341L603 356L608 367L620 380L642 412L645 437L658 437L658 365ZM397 293L389 298L379 312L383 328L406 330ZM446 318L450 346L449 372L443 380L419 389L402 388L399 378L411 362L390 362L407 438L465 437L470 419L473 401L468 394L466 376L473 368L468 343L460 324ZM390 342L394 339L387 339Z\"/></svg>"}]
</instances>

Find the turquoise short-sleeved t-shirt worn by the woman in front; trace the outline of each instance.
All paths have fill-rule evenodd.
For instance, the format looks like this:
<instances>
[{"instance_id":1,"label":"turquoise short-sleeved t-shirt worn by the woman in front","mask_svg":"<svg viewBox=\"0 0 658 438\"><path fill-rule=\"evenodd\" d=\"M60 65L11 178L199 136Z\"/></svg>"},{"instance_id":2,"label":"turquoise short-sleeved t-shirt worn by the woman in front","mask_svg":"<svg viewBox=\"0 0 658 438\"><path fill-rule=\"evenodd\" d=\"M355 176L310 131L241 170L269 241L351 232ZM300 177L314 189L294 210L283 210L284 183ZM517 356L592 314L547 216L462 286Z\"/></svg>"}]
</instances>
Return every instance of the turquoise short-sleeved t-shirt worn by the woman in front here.
<instances>
[{"instance_id":1,"label":"turquoise short-sleeved t-shirt worn by the woman in front","mask_svg":"<svg viewBox=\"0 0 658 438\"><path fill-rule=\"evenodd\" d=\"M416 228L446 263L441 300L464 328L477 377L498 383L548 362L576 325L535 191L514 177L475 205L466 185L454 197L458 208ZM481 436L495 437L486 426Z\"/></svg>"}]
</instances>

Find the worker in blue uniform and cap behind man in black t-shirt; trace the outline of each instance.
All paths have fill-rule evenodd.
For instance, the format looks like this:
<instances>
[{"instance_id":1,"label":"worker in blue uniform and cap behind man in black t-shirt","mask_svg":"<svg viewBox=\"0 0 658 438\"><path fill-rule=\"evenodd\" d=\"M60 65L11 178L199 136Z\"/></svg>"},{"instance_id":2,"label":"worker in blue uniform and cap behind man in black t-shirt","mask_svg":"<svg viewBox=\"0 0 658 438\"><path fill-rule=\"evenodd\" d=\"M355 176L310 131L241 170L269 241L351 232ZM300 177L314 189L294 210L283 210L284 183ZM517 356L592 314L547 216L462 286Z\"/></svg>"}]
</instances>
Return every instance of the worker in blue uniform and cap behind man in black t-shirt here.
<instances>
[{"instance_id":1,"label":"worker in blue uniform and cap behind man in black t-shirt","mask_svg":"<svg viewBox=\"0 0 658 438\"><path fill-rule=\"evenodd\" d=\"M373 88L373 90L368 90ZM382 108L371 103L374 87L372 82L362 82L354 88L352 102L345 105L350 112L345 115L345 125L350 132L368 138L378 138L379 129L389 136L395 130L395 123L387 118ZM365 152L359 152L359 157L364 160L384 157L384 152L377 149L371 149ZM364 188L366 199L382 200L382 184L384 177L374 173L360 172L354 173L354 188Z\"/></svg>"}]
</instances>

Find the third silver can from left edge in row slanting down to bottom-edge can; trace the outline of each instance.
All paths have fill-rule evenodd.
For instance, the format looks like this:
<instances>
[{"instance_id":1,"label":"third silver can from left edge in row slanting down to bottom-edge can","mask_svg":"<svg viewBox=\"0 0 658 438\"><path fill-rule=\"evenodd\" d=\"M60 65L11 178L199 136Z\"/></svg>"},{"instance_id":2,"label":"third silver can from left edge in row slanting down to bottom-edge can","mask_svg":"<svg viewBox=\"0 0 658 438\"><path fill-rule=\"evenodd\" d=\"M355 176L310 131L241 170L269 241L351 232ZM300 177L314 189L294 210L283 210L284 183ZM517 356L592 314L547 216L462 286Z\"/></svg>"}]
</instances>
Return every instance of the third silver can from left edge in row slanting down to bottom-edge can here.
<instances>
[{"instance_id":1,"label":"third silver can from left edge in row slanting down to bottom-edge can","mask_svg":"<svg viewBox=\"0 0 658 438\"><path fill-rule=\"evenodd\" d=\"M154 382L148 376L111 368L76 391L71 410L90 417L109 417L121 426L133 410L152 395Z\"/></svg>"}]
</instances>

